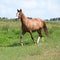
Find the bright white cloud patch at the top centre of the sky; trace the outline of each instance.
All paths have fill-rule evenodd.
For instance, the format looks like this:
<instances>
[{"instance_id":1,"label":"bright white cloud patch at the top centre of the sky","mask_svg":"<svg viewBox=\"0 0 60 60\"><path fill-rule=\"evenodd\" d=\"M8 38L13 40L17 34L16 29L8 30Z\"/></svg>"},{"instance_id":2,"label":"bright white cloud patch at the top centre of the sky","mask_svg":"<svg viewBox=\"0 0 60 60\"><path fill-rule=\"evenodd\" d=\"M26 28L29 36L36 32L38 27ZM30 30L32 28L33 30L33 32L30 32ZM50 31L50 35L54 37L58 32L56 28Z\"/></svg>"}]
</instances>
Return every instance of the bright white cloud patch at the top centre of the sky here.
<instances>
[{"instance_id":1,"label":"bright white cloud patch at the top centre of the sky","mask_svg":"<svg viewBox=\"0 0 60 60\"><path fill-rule=\"evenodd\" d=\"M32 9L32 8L36 8L37 3L34 0L22 1L21 6L23 8Z\"/></svg>"}]
</instances>

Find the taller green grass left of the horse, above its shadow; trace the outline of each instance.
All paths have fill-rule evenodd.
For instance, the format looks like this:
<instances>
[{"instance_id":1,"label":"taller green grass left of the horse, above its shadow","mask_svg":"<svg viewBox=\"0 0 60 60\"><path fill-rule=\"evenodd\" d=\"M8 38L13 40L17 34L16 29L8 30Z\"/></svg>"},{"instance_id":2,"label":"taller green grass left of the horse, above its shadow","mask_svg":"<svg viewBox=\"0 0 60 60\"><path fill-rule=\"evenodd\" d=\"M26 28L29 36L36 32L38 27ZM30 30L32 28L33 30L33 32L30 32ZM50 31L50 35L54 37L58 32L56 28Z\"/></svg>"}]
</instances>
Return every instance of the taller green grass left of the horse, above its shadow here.
<instances>
[{"instance_id":1,"label":"taller green grass left of the horse, above its shadow","mask_svg":"<svg viewBox=\"0 0 60 60\"><path fill-rule=\"evenodd\" d=\"M0 21L0 46L19 41L20 22ZM17 40L18 39L18 40Z\"/></svg>"}]
</instances>

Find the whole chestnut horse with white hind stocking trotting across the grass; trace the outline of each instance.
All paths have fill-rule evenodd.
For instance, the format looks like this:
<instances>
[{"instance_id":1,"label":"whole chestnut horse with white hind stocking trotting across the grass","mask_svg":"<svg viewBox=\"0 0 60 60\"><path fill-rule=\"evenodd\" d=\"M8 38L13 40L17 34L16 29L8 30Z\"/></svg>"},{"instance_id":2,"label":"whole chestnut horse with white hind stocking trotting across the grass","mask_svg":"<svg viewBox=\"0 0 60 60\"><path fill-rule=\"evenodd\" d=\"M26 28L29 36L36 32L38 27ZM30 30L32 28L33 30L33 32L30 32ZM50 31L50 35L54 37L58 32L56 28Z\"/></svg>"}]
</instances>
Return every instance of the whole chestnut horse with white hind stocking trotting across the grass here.
<instances>
[{"instance_id":1,"label":"whole chestnut horse with white hind stocking trotting across the grass","mask_svg":"<svg viewBox=\"0 0 60 60\"><path fill-rule=\"evenodd\" d=\"M18 15L18 18L21 19L21 23L22 23L22 34L20 36L21 45L23 45L22 37L26 32L30 33L34 43L36 42L33 38L32 32L37 31L39 34L37 43L39 43L39 39L42 38L42 34L41 34L42 28L44 29L45 34L48 36L48 30L47 30L46 24L42 19L39 19L39 18L29 19L24 15L24 13L22 12L22 9L20 10L17 9L17 15Z\"/></svg>"}]
</instances>

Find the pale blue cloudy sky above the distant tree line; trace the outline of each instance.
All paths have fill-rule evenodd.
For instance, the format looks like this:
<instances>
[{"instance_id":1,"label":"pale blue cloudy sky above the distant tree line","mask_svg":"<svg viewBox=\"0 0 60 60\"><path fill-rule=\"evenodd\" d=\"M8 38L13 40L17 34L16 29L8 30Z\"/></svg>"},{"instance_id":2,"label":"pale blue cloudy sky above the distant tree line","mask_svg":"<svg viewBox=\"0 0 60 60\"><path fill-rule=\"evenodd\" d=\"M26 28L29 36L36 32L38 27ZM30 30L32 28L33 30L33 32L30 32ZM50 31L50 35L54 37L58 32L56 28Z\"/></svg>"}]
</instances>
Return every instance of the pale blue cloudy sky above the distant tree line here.
<instances>
[{"instance_id":1,"label":"pale blue cloudy sky above the distant tree line","mask_svg":"<svg viewBox=\"0 0 60 60\"><path fill-rule=\"evenodd\" d=\"M49 19L60 17L60 0L1 0L0 17L15 18L17 9L27 17Z\"/></svg>"}]
</instances>

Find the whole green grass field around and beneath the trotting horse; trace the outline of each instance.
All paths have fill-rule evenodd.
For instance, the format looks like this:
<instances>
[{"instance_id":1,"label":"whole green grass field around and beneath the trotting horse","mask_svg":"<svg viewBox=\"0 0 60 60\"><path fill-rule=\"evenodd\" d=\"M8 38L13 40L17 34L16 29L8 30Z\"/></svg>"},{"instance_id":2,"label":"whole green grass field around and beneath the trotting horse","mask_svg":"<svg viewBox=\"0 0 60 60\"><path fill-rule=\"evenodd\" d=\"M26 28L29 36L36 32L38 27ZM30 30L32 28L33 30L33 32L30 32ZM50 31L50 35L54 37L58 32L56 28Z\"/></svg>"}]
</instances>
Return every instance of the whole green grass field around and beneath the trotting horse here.
<instances>
[{"instance_id":1,"label":"whole green grass field around and beneath the trotting horse","mask_svg":"<svg viewBox=\"0 0 60 60\"><path fill-rule=\"evenodd\" d=\"M34 45L29 33L20 46L20 21L0 21L0 60L60 60L60 23L46 22L50 38L44 32L40 43ZM38 34L33 33L37 40Z\"/></svg>"}]
</instances>

